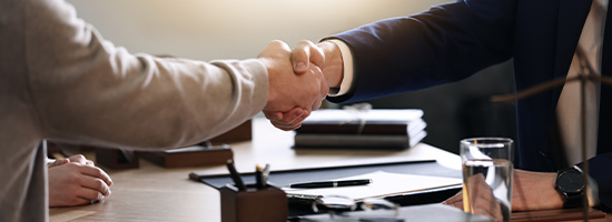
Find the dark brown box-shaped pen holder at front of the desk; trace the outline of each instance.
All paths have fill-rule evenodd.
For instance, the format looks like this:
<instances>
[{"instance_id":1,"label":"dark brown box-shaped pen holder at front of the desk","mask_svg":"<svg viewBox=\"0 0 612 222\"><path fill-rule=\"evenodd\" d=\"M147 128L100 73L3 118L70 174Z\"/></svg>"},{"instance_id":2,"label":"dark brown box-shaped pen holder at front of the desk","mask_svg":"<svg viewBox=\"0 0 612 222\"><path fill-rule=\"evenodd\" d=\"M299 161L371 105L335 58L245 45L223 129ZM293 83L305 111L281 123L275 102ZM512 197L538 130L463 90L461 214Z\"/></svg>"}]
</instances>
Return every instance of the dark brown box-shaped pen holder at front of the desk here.
<instances>
[{"instance_id":1,"label":"dark brown box-shaped pen holder at front of the desk","mask_svg":"<svg viewBox=\"0 0 612 222\"><path fill-rule=\"evenodd\" d=\"M267 185L257 189L247 184L245 191L231 184L219 189L221 194L221 222L285 222L288 205L285 191Z\"/></svg>"}]
</instances>

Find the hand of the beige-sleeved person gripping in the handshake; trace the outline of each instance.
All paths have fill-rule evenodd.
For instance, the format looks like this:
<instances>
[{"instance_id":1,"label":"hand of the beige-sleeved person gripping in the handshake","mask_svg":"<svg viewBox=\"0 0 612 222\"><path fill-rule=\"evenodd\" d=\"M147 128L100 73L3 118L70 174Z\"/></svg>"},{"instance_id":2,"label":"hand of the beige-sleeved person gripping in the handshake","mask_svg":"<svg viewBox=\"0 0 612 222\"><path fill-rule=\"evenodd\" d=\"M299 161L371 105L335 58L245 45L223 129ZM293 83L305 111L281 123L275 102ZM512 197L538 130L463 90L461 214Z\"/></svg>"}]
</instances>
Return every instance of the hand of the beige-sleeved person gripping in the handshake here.
<instances>
[{"instance_id":1,"label":"hand of the beige-sleeved person gripping in the handshake","mask_svg":"<svg viewBox=\"0 0 612 222\"><path fill-rule=\"evenodd\" d=\"M302 41L300 44L308 42ZM258 56L268 69L269 78L268 103L264 113L282 130L299 128L302 121L320 107L329 91L319 69L325 61L323 53L316 48L302 48L299 53L309 59L296 61L286 43L273 41Z\"/></svg>"}]
</instances>

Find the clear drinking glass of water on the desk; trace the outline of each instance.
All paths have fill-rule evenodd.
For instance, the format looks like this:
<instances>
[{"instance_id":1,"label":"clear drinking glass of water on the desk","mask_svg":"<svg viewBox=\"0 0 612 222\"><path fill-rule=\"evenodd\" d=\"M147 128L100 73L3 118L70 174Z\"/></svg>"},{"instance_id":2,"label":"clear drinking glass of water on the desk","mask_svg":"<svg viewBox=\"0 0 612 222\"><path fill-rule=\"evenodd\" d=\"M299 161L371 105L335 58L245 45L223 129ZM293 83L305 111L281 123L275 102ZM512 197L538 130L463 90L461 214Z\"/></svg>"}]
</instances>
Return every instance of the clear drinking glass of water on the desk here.
<instances>
[{"instance_id":1,"label":"clear drinking glass of water on the desk","mask_svg":"<svg viewBox=\"0 0 612 222\"><path fill-rule=\"evenodd\" d=\"M463 164L463 210L477 213L478 208L501 212L510 221L512 212L513 141L507 138L471 138L461 141ZM482 192L486 183L491 192ZM481 189L481 190L478 190ZM495 202L476 202L482 195L494 195ZM486 198L485 198L486 199ZM491 212L488 210L485 210Z\"/></svg>"}]
</instances>

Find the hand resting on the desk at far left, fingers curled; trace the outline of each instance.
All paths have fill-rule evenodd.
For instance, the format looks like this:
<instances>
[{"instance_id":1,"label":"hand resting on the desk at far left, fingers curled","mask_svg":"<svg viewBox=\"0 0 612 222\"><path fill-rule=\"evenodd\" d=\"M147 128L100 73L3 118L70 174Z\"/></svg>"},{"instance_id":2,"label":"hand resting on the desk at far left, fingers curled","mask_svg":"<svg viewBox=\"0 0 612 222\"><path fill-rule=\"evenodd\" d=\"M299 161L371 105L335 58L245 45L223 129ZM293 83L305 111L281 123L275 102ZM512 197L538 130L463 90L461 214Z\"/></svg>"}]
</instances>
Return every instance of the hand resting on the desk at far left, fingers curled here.
<instances>
[{"instance_id":1,"label":"hand resting on the desk at far left, fingers curled","mask_svg":"<svg viewBox=\"0 0 612 222\"><path fill-rule=\"evenodd\" d=\"M49 206L82 205L101 200L110 195L110 176L82 155L49 164Z\"/></svg>"}]
</instances>

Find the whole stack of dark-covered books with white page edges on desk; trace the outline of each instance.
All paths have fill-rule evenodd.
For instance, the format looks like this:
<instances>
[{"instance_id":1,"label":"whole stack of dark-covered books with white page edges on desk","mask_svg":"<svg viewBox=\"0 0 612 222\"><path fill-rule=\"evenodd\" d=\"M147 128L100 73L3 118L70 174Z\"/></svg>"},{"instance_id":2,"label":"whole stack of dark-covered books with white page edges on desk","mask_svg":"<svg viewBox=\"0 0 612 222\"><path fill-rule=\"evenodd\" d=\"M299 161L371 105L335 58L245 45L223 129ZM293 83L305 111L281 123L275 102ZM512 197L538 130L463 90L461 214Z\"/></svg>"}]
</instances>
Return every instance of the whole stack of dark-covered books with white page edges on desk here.
<instances>
[{"instance_id":1,"label":"whole stack of dark-covered books with white page edges on desk","mask_svg":"<svg viewBox=\"0 0 612 222\"><path fill-rule=\"evenodd\" d=\"M296 130L295 148L406 149L427 132L423 110L317 110Z\"/></svg>"}]
</instances>

